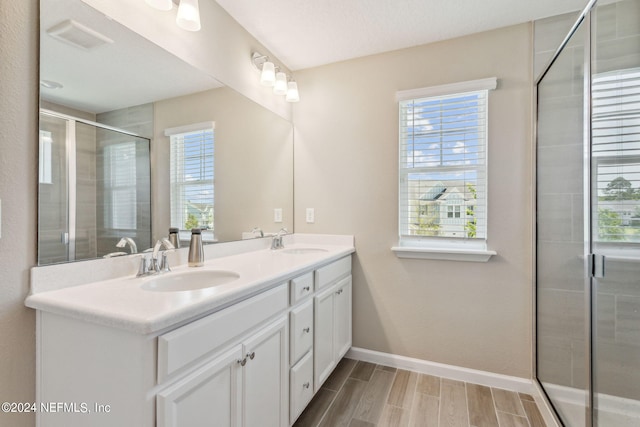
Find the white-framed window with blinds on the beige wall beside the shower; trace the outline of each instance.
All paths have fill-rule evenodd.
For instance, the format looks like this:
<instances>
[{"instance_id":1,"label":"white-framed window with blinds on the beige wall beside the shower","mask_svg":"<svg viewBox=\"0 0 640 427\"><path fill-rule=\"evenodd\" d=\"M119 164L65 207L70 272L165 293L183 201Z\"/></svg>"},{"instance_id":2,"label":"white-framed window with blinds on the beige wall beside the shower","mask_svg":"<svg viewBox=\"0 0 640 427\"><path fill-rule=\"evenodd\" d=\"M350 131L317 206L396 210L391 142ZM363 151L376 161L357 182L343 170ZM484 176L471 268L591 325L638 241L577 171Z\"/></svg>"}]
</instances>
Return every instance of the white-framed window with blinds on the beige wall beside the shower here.
<instances>
[{"instance_id":1,"label":"white-framed window with blinds on the beige wall beside the shower","mask_svg":"<svg viewBox=\"0 0 640 427\"><path fill-rule=\"evenodd\" d=\"M488 91L496 85L397 94L400 247L486 251Z\"/></svg>"}]
</instances>

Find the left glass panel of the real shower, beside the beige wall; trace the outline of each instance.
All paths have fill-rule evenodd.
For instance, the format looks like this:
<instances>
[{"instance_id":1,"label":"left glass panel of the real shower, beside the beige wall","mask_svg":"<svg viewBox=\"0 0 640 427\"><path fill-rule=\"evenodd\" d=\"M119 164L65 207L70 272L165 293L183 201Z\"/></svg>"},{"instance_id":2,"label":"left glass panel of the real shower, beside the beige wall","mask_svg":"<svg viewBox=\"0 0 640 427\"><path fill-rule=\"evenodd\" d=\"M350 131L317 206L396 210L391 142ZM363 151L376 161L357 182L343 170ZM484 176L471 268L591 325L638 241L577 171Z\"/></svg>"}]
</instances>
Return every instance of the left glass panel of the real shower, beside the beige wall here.
<instances>
[{"instance_id":1,"label":"left glass panel of the real shower, beside the beige wall","mask_svg":"<svg viewBox=\"0 0 640 427\"><path fill-rule=\"evenodd\" d=\"M536 369L567 426L584 426L589 408L585 34L582 24L538 84Z\"/></svg>"}]
</instances>

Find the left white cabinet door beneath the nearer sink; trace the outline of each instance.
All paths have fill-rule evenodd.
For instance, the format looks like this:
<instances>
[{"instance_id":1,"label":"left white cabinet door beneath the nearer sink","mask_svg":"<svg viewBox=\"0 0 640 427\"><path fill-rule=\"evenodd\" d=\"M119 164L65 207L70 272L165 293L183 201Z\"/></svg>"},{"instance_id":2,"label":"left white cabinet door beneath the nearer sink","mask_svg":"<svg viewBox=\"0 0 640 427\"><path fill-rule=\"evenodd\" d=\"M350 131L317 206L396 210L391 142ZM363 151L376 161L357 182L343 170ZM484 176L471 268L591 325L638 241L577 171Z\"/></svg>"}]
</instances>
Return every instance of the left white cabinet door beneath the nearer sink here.
<instances>
[{"instance_id":1,"label":"left white cabinet door beneath the nearer sink","mask_svg":"<svg viewBox=\"0 0 640 427\"><path fill-rule=\"evenodd\" d=\"M237 345L158 393L158 427L240 425L240 364Z\"/></svg>"}]
</instances>

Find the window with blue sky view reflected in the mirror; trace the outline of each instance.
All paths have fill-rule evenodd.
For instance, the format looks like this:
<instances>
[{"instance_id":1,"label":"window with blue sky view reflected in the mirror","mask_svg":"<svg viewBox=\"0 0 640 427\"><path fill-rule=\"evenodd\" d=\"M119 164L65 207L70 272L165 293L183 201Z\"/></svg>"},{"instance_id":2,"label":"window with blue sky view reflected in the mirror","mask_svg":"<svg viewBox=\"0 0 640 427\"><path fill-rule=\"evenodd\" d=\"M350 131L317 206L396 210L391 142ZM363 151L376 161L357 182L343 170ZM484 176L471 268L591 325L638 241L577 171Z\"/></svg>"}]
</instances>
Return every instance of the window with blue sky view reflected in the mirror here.
<instances>
[{"instance_id":1,"label":"window with blue sky view reflected in the mirror","mask_svg":"<svg viewBox=\"0 0 640 427\"><path fill-rule=\"evenodd\" d=\"M214 123L165 130L170 136L171 226L214 229Z\"/></svg>"}]
</instances>

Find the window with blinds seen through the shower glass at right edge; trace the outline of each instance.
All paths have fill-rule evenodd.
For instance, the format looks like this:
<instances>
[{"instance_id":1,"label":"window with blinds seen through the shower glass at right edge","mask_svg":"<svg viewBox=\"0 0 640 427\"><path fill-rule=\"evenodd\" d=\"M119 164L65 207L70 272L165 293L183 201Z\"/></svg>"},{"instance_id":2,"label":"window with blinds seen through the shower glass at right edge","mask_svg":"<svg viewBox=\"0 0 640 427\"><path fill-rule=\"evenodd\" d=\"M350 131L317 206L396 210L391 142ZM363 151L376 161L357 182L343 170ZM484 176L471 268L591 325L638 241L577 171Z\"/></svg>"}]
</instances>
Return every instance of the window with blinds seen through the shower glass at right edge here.
<instances>
[{"instance_id":1,"label":"window with blinds seen through the shower glass at right edge","mask_svg":"<svg viewBox=\"0 0 640 427\"><path fill-rule=\"evenodd\" d=\"M594 76L592 150L598 242L640 243L640 69Z\"/></svg>"}]
</instances>

